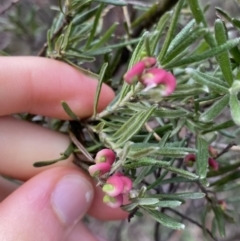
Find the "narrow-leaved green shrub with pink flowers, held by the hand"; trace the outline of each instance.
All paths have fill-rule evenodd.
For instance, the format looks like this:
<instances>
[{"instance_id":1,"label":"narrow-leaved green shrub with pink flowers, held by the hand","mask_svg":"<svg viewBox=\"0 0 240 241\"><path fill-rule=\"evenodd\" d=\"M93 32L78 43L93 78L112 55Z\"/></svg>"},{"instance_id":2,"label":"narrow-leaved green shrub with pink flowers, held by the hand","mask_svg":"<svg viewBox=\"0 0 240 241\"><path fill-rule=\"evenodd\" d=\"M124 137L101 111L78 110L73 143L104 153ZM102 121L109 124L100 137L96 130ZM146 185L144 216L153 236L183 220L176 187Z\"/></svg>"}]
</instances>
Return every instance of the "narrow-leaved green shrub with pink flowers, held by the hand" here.
<instances>
[{"instance_id":1,"label":"narrow-leaved green shrub with pink flowers, held by the hand","mask_svg":"<svg viewBox=\"0 0 240 241\"><path fill-rule=\"evenodd\" d=\"M129 225L141 215L158 223L151 225L155 240L170 240L171 229L191 233L192 225L206 240L230 234L225 230L239 222L240 200L240 39L233 37L239 36L239 20L214 5L216 19L208 24L208 9L198 0L59 4L47 37L41 34L45 44L38 55L93 76L98 87L88 119L80 120L64 101L69 122L19 115L72 140L59 159L34 166L74 153L75 164L101 186L113 212L128 212ZM9 17L5 13L0 29L12 35L18 29L18 41L26 29L31 40L38 39L43 20L31 7L22 16L20 7L12 6ZM28 49L36 53L32 42ZM97 113L103 83L116 97Z\"/></svg>"}]
</instances>

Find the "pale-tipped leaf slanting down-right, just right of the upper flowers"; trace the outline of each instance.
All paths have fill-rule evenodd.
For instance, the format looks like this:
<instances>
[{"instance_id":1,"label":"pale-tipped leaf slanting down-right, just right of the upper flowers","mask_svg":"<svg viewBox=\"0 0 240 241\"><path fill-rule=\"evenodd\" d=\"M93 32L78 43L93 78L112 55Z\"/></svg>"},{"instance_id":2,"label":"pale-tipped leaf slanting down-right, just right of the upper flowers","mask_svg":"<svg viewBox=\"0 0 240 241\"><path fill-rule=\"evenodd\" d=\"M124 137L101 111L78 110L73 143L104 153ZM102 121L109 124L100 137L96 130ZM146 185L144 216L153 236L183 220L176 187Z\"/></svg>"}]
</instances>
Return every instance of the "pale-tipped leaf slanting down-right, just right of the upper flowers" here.
<instances>
[{"instance_id":1,"label":"pale-tipped leaf slanting down-right, just right of the upper flowers","mask_svg":"<svg viewBox=\"0 0 240 241\"><path fill-rule=\"evenodd\" d=\"M224 87L224 85L220 85L222 83L221 80L214 78L212 76L209 76L207 74L203 74L199 71L196 71L191 68L187 68L186 72L198 83L202 85L206 85L211 89L212 91L218 92L218 93L228 93L228 88Z\"/></svg>"}]
</instances>

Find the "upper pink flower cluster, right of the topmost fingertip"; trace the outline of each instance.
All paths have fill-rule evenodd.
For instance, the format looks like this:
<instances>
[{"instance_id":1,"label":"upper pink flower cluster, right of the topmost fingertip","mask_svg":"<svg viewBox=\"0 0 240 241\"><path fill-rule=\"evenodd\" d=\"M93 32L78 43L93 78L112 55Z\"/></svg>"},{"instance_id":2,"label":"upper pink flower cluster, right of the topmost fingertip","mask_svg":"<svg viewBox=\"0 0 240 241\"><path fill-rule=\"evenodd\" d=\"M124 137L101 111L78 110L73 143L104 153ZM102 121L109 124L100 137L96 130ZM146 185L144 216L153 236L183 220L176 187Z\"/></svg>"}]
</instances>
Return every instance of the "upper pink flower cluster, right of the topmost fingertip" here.
<instances>
[{"instance_id":1,"label":"upper pink flower cluster, right of the topmost fingertip","mask_svg":"<svg viewBox=\"0 0 240 241\"><path fill-rule=\"evenodd\" d=\"M145 57L128 70L123 78L130 85L136 81L141 82L145 86L144 91L164 85L165 88L161 93L163 96L168 96L176 88L176 79L170 72L156 67L156 63L156 58Z\"/></svg>"}]
</instances>

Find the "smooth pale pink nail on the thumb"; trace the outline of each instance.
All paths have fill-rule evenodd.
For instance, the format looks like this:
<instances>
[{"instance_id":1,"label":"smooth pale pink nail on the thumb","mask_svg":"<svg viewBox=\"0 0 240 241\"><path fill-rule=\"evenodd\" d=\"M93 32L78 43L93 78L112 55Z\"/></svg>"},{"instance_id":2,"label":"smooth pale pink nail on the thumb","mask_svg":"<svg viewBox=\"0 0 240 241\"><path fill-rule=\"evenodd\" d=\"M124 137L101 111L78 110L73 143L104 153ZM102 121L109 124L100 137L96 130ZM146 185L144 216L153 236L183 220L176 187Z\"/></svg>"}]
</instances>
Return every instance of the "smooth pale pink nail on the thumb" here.
<instances>
[{"instance_id":1,"label":"smooth pale pink nail on the thumb","mask_svg":"<svg viewBox=\"0 0 240 241\"><path fill-rule=\"evenodd\" d=\"M60 221L70 226L84 216L92 198L92 185L81 176L72 174L57 183L51 201Z\"/></svg>"}]
</instances>

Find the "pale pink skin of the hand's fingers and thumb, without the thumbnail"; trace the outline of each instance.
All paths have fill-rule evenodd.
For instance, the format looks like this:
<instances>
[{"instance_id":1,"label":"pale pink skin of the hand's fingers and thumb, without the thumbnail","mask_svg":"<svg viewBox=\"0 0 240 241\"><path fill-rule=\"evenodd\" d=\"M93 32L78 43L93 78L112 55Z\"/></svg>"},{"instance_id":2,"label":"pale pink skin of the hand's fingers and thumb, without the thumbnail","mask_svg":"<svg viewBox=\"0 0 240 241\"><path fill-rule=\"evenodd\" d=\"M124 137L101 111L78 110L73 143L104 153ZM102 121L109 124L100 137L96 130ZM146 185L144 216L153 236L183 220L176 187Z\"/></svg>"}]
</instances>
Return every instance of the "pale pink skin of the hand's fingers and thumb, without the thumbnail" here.
<instances>
[{"instance_id":1,"label":"pale pink skin of the hand's fingers and thumb, without the thumbnail","mask_svg":"<svg viewBox=\"0 0 240 241\"><path fill-rule=\"evenodd\" d=\"M67 120L62 100L80 118L89 117L96 87L96 80L56 60L0 58L0 174L24 182L17 185L0 178L0 240L97 241L81 218L66 224L52 207L53 190L64 177L71 175L82 177L89 190L94 190L92 201L79 203L84 213L101 220L127 217L120 208L113 210L102 203L103 193L72 163L73 156L53 166L34 168L35 161L58 158L59 153L67 149L69 137L11 117L15 113L29 112ZM113 97L114 92L104 85L98 111Z\"/></svg>"}]
</instances>

